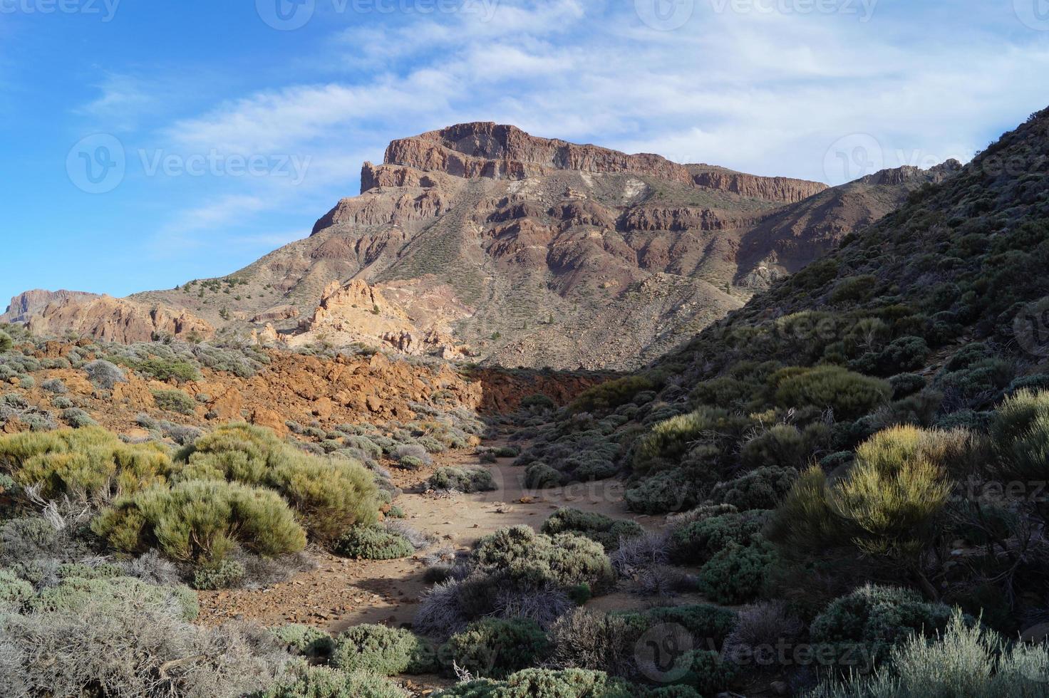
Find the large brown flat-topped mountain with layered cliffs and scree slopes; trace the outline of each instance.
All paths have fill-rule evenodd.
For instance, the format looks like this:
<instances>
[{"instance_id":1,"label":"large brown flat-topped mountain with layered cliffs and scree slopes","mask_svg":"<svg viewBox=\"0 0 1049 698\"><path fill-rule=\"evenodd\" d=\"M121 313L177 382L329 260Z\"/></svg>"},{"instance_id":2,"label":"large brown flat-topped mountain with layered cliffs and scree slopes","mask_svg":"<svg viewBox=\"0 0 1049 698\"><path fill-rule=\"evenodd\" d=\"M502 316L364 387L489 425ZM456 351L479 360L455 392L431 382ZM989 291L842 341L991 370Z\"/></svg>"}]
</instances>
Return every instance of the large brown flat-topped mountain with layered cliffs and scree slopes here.
<instances>
[{"instance_id":1,"label":"large brown flat-topped mountain with layered cliffs and scree slopes","mask_svg":"<svg viewBox=\"0 0 1049 698\"><path fill-rule=\"evenodd\" d=\"M129 300L294 344L330 284L359 281L407 321L358 341L421 348L436 331L429 353L633 369L952 169L828 189L461 124L392 141L308 238Z\"/></svg>"}]
</instances>

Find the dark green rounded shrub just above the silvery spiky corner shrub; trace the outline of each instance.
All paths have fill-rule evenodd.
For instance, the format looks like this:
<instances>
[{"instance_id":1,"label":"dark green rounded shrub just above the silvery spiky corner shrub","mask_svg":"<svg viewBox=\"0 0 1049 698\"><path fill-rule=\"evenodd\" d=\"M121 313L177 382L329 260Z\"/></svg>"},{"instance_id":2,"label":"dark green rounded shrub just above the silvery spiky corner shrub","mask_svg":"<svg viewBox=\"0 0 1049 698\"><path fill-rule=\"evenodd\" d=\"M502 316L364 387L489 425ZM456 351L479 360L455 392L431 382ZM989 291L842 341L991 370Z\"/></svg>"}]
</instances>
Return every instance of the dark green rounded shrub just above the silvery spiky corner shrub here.
<instances>
[{"instance_id":1,"label":"dark green rounded shrub just above the silvery spiky corner shrub","mask_svg":"<svg viewBox=\"0 0 1049 698\"><path fill-rule=\"evenodd\" d=\"M947 606L926 603L908 589L869 584L833 601L809 634L813 642L862 645L880 660L915 633L942 631L950 615Z\"/></svg>"}]
</instances>

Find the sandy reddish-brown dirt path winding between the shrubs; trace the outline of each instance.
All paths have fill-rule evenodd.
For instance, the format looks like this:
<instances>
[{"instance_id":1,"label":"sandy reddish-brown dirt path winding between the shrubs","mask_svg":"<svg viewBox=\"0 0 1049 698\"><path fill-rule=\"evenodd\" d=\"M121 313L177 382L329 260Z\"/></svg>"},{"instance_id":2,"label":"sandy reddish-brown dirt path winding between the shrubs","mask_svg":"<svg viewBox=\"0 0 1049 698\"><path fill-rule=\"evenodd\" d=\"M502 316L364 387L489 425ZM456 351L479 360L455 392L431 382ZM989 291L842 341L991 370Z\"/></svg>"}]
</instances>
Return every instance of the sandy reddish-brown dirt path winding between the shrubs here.
<instances>
[{"instance_id":1,"label":"sandy reddish-brown dirt path winding between the shrubs","mask_svg":"<svg viewBox=\"0 0 1049 698\"><path fill-rule=\"evenodd\" d=\"M490 444L495 445L495 444ZM481 464L476 455L444 454L433 466L414 473L394 473L405 494L397 504L413 528L435 536L444 546L468 550L480 537L504 526L529 524L539 528L554 510L572 506L587 511L633 519L646 528L658 528L662 518L633 516L623 504L623 485L615 480L529 490L522 484L523 467L512 458ZM441 465L487 467L498 489L475 495L435 495L418 485ZM200 593L200 623L251 619L265 626L304 623L340 632L362 623L391 626L410 624L423 583L425 551L403 560L344 560L318 554L318 567L269 589L236 589Z\"/></svg>"}]
</instances>

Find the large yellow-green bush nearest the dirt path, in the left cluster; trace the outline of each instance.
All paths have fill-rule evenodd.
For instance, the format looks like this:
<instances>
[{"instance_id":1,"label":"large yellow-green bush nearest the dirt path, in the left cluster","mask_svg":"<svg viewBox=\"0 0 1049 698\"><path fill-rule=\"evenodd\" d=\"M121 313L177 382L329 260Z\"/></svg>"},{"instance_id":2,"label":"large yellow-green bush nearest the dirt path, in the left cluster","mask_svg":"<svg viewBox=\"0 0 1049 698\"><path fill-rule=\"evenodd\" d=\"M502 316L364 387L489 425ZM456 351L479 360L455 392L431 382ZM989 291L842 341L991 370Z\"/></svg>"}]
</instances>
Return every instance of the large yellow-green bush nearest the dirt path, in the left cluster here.
<instances>
[{"instance_id":1,"label":"large yellow-green bush nearest the dirt path, in the left cluster","mask_svg":"<svg viewBox=\"0 0 1049 698\"><path fill-rule=\"evenodd\" d=\"M221 479L278 490L324 545L346 528L379 517L378 487L363 465L303 453L261 427L219 427L184 449L177 460L180 479Z\"/></svg>"}]
</instances>

